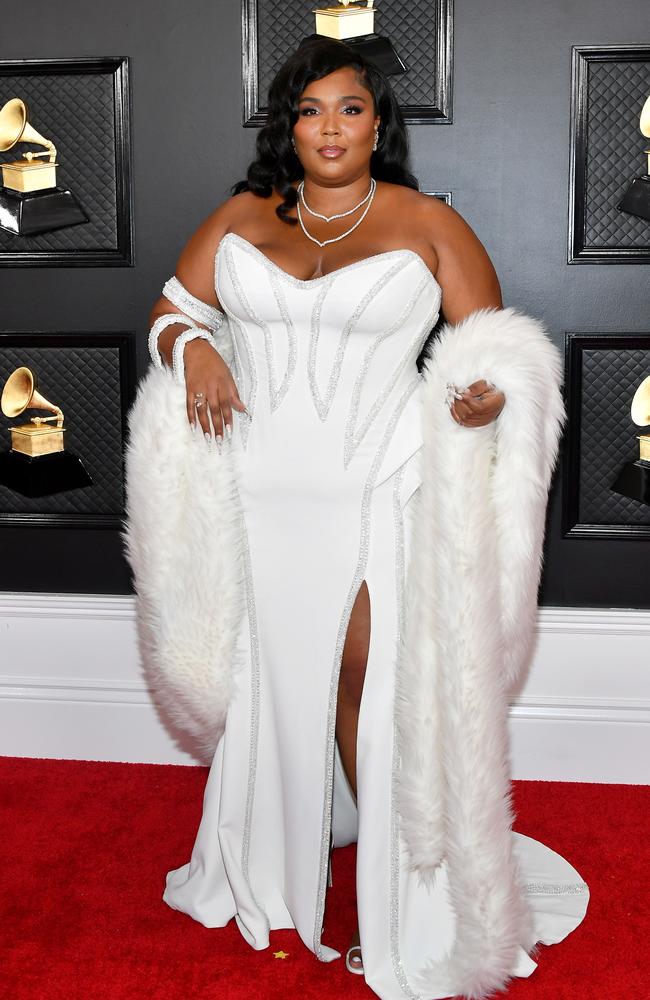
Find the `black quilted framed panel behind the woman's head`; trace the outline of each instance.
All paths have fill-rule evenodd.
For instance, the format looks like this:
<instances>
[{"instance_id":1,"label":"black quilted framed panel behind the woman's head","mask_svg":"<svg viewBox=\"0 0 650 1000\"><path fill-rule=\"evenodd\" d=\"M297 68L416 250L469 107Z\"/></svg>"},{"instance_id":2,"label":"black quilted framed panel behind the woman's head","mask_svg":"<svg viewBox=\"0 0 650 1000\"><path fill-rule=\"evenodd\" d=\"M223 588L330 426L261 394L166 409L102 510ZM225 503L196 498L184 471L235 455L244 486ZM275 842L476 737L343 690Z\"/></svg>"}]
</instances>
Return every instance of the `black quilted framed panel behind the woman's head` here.
<instances>
[{"instance_id":1,"label":"black quilted framed panel behind the woman's head","mask_svg":"<svg viewBox=\"0 0 650 1000\"><path fill-rule=\"evenodd\" d=\"M242 0L244 125L266 123L269 85L303 38L317 4ZM320 3L318 6L326 6ZM334 3L332 4L334 6ZM453 0L379 0L375 31L390 38L408 72L390 78L409 124L452 121Z\"/></svg>"}]
</instances>

